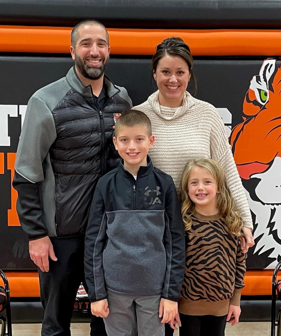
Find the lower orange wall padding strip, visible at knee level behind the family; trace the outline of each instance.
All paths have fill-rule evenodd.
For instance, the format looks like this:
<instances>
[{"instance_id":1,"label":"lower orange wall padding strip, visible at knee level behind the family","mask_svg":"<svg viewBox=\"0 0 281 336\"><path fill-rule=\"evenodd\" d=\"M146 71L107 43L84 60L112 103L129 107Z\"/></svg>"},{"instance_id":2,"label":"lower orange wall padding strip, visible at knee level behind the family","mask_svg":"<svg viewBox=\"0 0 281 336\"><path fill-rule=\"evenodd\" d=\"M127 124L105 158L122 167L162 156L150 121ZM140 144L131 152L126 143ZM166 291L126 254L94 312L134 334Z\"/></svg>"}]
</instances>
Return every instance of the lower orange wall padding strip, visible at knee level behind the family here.
<instances>
[{"instance_id":1,"label":"lower orange wall padding strip, visible at knee level behind the family","mask_svg":"<svg viewBox=\"0 0 281 336\"><path fill-rule=\"evenodd\" d=\"M271 295L273 270L247 270L245 277L245 288L242 295ZM39 279L37 272L5 272L12 297L38 297ZM281 271L278 274L281 279ZM3 283L0 281L0 285Z\"/></svg>"}]
</instances>

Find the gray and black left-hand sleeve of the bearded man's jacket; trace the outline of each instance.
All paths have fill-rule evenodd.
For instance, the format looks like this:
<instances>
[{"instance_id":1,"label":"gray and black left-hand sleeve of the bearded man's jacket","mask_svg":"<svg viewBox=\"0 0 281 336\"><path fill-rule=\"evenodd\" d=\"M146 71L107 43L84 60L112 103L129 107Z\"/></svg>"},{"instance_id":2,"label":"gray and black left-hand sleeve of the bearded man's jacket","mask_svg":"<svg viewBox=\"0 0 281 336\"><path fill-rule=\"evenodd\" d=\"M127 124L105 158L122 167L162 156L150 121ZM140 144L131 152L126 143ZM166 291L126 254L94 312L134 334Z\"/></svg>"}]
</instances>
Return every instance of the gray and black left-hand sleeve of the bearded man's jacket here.
<instances>
[{"instance_id":1,"label":"gray and black left-hand sleeve of the bearded man's jacket","mask_svg":"<svg viewBox=\"0 0 281 336\"><path fill-rule=\"evenodd\" d=\"M54 120L46 103L33 95L19 139L13 187L17 190L19 221L29 239L47 236L42 222L39 183L44 180L42 162L56 138Z\"/></svg>"}]
</instances>

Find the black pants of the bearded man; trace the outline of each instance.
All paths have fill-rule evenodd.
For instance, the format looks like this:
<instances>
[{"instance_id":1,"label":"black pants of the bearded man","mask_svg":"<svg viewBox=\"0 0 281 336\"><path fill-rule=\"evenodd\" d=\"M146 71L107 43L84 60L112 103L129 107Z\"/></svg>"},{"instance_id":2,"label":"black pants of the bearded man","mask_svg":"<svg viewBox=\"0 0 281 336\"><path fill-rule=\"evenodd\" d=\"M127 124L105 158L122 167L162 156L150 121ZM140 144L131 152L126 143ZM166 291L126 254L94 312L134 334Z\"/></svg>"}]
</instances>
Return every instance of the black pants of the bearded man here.
<instances>
[{"instance_id":1,"label":"black pants of the bearded man","mask_svg":"<svg viewBox=\"0 0 281 336\"><path fill-rule=\"evenodd\" d=\"M84 281L84 237L51 238L57 261L49 271L39 269L40 296L45 309L42 336L70 336L77 289ZM91 322L92 336L106 336L102 318Z\"/></svg>"}]
</instances>

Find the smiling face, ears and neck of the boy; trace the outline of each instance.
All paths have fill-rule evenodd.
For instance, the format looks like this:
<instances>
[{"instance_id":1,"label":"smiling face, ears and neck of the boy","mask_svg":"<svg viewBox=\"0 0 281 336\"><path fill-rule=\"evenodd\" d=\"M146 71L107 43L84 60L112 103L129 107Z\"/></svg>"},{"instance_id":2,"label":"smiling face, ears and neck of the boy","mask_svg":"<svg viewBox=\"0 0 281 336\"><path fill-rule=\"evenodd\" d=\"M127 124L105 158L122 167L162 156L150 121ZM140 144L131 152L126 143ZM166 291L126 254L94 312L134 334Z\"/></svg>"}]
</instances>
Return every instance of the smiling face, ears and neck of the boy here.
<instances>
[{"instance_id":1,"label":"smiling face, ears and neck of the boy","mask_svg":"<svg viewBox=\"0 0 281 336\"><path fill-rule=\"evenodd\" d=\"M121 126L113 137L116 150L124 160L124 167L136 175L140 166L147 165L147 154L154 143L154 135L149 136L142 125Z\"/></svg>"}]
</instances>

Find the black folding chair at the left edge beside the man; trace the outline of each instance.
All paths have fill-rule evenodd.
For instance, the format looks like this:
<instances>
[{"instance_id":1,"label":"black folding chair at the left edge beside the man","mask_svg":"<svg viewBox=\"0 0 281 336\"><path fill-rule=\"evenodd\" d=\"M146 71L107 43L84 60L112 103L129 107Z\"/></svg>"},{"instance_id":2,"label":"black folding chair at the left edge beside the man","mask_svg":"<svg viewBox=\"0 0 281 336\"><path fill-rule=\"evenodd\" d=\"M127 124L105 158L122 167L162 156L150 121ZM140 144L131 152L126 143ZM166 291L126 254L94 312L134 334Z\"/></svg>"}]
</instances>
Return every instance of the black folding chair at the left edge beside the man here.
<instances>
[{"instance_id":1,"label":"black folding chair at the left edge beside the man","mask_svg":"<svg viewBox=\"0 0 281 336\"><path fill-rule=\"evenodd\" d=\"M0 286L0 321L1 321L0 336L12 336L10 287L8 279L5 273L2 271L2 269L0 269L0 277L4 282L4 287Z\"/></svg>"}]
</instances>

